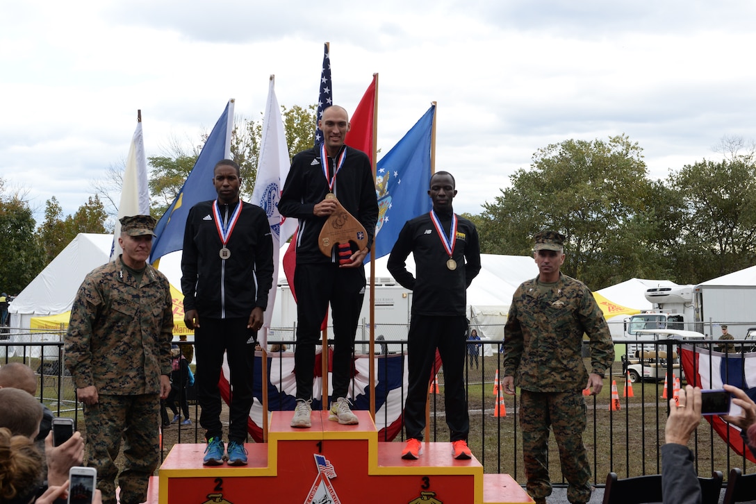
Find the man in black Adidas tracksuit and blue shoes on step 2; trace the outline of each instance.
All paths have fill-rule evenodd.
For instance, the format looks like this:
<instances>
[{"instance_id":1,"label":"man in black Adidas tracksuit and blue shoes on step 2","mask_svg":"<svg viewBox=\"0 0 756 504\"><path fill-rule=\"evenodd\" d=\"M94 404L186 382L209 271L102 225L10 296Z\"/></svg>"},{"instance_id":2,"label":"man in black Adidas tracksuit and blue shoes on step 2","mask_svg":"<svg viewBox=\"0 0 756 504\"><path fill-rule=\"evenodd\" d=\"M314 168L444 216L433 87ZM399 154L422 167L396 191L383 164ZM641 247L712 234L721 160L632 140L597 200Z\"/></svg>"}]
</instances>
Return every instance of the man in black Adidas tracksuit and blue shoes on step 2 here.
<instances>
[{"instance_id":1,"label":"man in black Adidas tracksuit and blue shoes on step 2","mask_svg":"<svg viewBox=\"0 0 756 504\"><path fill-rule=\"evenodd\" d=\"M265 211L239 199L239 165L231 159L218 162L212 184L218 199L197 203L187 217L181 290L184 321L189 329L194 329L197 350L200 425L206 429L205 436L211 444L220 443L222 455L218 379L223 354L228 354L234 391L228 439L243 444L253 403L255 344L249 338L256 336L262 327L263 312L268 305L268 291L273 284L273 241ZM224 228L226 243L222 238ZM210 455L206 464L222 463L219 456ZM243 462L238 459L230 463L246 464L246 456Z\"/></svg>"}]
</instances>

